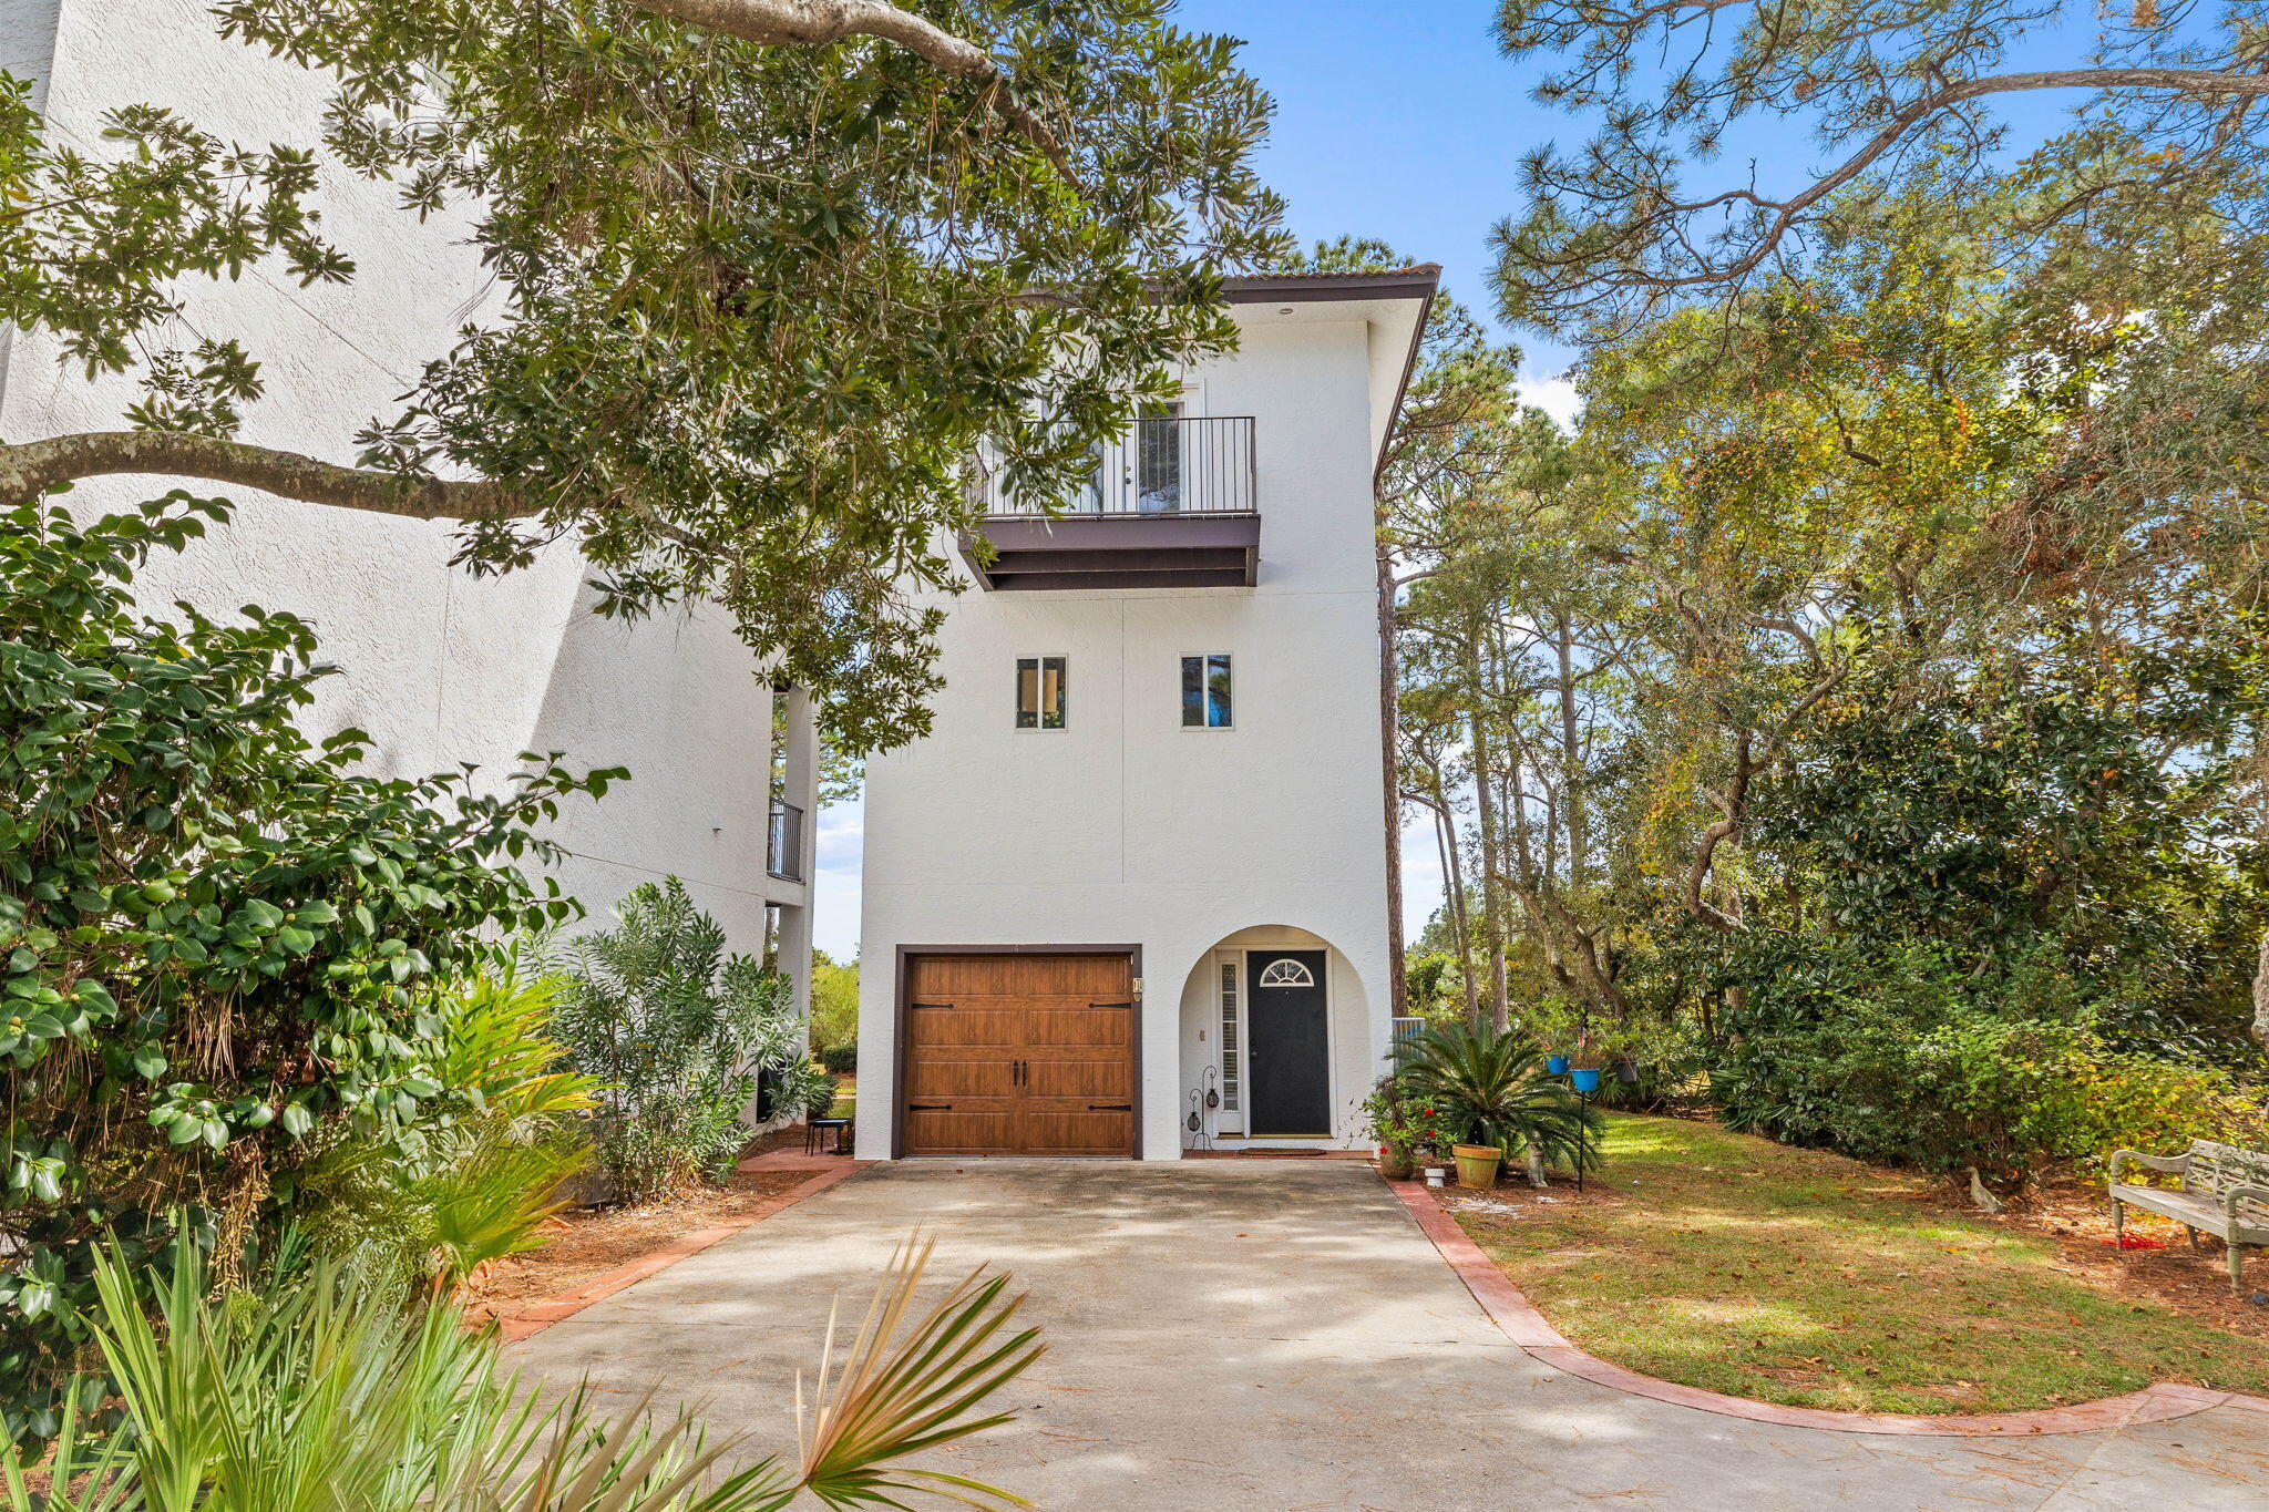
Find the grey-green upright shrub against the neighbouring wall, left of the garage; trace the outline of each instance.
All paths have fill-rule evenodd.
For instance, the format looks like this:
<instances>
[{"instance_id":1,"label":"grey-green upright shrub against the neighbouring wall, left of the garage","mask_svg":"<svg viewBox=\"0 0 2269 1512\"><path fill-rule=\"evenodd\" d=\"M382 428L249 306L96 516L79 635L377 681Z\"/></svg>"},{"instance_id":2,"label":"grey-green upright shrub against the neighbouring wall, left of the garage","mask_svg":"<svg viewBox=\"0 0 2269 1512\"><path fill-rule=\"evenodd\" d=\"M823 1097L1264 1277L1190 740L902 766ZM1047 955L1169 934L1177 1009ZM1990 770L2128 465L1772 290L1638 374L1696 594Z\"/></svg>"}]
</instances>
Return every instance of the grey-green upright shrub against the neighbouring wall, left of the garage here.
<instances>
[{"instance_id":1,"label":"grey-green upright shrub against the neighbouring wall, left of the garage","mask_svg":"<svg viewBox=\"0 0 2269 1512\"><path fill-rule=\"evenodd\" d=\"M599 1167L624 1201L717 1181L749 1140L756 1072L799 1061L787 977L724 952L676 877L633 889L619 927L567 941L554 1020L601 1084Z\"/></svg>"}]
</instances>

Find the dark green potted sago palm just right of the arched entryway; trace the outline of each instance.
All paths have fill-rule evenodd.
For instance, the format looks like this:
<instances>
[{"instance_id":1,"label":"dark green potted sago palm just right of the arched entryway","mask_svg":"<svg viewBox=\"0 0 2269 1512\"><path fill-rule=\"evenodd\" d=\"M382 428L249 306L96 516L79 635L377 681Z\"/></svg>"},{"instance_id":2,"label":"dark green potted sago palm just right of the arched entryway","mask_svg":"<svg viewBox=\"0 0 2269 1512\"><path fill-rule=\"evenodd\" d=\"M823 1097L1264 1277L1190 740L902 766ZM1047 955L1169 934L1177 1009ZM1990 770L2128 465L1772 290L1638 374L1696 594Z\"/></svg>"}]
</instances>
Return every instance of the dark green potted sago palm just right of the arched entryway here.
<instances>
[{"instance_id":1,"label":"dark green potted sago palm just right of the arched entryway","mask_svg":"<svg viewBox=\"0 0 2269 1512\"><path fill-rule=\"evenodd\" d=\"M1511 1161L1534 1147L1545 1161L1597 1165L1600 1113L1545 1072L1525 1034L1427 1025L1395 1043L1402 1097L1434 1108L1464 1145L1495 1145Z\"/></svg>"}]
</instances>

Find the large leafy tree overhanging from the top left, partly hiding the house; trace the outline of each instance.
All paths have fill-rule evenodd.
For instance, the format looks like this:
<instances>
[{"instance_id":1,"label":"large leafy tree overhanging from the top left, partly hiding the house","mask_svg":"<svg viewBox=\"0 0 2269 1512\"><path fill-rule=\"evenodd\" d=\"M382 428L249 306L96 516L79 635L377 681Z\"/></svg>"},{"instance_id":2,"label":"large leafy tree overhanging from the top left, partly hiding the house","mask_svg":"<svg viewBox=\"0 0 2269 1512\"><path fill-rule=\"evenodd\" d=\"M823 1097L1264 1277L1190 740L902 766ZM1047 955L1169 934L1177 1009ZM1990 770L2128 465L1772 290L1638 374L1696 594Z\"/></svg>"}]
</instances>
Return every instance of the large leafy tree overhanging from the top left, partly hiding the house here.
<instances>
[{"instance_id":1,"label":"large leafy tree overhanging from the top left, partly hiding the house","mask_svg":"<svg viewBox=\"0 0 2269 1512\"><path fill-rule=\"evenodd\" d=\"M601 612L719 601L830 741L926 725L980 438L1044 496L1221 349L1228 267L1275 256L1266 95L1164 0L227 0L227 34L338 82L320 143L154 107L66 147L0 75L0 322L143 383L116 431L0 438L0 503L170 474L461 521L506 571L574 537ZM479 206L501 315L356 435L236 440L261 351L175 342L202 279L347 281L327 172ZM184 320L186 317L186 320Z\"/></svg>"}]
</instances>

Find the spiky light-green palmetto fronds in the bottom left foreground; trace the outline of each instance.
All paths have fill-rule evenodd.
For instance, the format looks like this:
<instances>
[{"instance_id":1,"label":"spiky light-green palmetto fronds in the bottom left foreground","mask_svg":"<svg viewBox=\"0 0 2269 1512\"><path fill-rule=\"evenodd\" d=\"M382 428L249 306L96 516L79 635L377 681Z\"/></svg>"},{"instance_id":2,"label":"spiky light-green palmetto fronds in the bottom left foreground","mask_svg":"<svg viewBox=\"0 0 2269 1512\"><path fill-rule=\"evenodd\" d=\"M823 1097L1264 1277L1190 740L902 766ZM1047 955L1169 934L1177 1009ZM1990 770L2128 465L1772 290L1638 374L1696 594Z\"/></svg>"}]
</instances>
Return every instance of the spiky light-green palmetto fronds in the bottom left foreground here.
<instances>
[{"instance_id":1,"label":"spiky light-green palmetto fronds in the bottom left foreground","mask_svg":"<svg viewBox=\"0 0 2269 1512\"><path fill-rule=\"evenodd\" d=\"M803 1462L733 1467L740 1435L640 1401L608 1421L574 1390L545 1401L488 1335L445 1306L399 1308L338 1267L213 1294L193 1247L163 1276L152 1319L98 1263L91 1324L123 1421L66 1415L41 1469L0 1444L9 1512L778 1512L801 1492L828 1507L903 1507L937 1494L1017 1507L996 1487L899 1464L1003 1421L982 1403L1041 1353L1012 1328L1021 1297L969 1276L905 1328L926 1245L901 1249L844 1369L821 1365ZM830 1342L833 1351L833 1342ZM75 1392L73 1396L84 1396Z\"/></svg>"}]
</instances>

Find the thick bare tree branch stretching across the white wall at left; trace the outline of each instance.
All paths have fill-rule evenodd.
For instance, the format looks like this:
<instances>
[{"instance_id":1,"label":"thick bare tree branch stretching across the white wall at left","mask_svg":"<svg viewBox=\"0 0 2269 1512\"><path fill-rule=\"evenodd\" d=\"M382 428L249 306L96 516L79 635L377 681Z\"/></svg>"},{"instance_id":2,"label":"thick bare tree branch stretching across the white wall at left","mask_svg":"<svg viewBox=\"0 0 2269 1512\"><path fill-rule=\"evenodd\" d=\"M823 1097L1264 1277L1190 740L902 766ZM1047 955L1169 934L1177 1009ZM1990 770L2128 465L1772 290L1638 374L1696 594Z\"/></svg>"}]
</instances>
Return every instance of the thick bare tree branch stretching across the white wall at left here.
<instances>
[{"instance_id":1,"label":"thick bare tree branch stretching across the white wall at left","mask_svg":"<svg viewBox=\"0 0 2269 1512\"><path fill-rule=\"evenodd\" d=\"M331 503L404 519L524 519L542 503L501 483L445 483L318 462L297 451L170 431L82 431L0 444L0 501L36 499L59 483L120 474L175 474L259 487L304 503Z\"/></svg>"}]
</instances>

